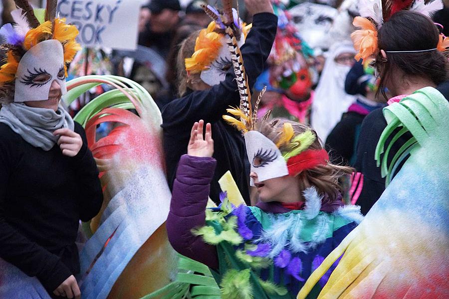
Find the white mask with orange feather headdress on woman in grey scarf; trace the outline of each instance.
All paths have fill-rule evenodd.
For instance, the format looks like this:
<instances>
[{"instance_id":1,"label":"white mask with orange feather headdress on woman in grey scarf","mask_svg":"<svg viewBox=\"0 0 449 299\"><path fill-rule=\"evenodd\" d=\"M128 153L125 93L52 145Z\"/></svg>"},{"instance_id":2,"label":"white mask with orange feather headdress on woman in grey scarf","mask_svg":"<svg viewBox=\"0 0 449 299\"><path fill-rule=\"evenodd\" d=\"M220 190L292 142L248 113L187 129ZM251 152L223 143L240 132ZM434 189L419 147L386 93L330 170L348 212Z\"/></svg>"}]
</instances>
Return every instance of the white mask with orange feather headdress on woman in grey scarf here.
<instances>
[{"instance_id":1,"label":"white mask with orange feather headdress on woman in grey scarf","mask_svg":"<svg viewBox=\"0 0 449 299\"><path fill-rule=\"evenodd\" d=\"M57 0L47 0L45 9L33 10L27 0L15 0L15 4L19 7L11 12L15 24L5 24L0 29L4 40L1 49L6 51L6 63L0 68L2 98L10 95L14 89L20 88L20 84L28 88L39 87L41 89L43 85L48 85L49 89L51 82L43 85L42 82L36 83L34 82L35 75L38 77L45 74L46 78L50 78L47 81L52 81L51 78L53 78L60 80L59 83L63 84L62 81L65 81L67 76L67 64L72 61L76 52L81 48L75 40L78 29L73 25L66 24L65 18L56 18ZM53 42L48 42L50 40ZM44 41L46 45L40 46L40 43ZM33 49L36 46L39 49ZM43 50L49 52L40 53ZM38 58L42 55L46 57L45 61L39 61ZM60 61L50 61L53 58ZM28 65L30 63L37 64ZM20 67L20 64L23 66ZM21 69L26 73L19 74ZM18 77L20 80L16 80ZM14 86L14 81L19 82L15 82L17 84ZM48 94L46 88L43 89L45 90L42 90L42 95ZM35 94L35 90L29 94ZM40 93L38 94L42 96ZM40 100L44 99L46 97ZM33 99L31 96L31 98L23 100L37 99Z\"/></svg>"}]
</instances>

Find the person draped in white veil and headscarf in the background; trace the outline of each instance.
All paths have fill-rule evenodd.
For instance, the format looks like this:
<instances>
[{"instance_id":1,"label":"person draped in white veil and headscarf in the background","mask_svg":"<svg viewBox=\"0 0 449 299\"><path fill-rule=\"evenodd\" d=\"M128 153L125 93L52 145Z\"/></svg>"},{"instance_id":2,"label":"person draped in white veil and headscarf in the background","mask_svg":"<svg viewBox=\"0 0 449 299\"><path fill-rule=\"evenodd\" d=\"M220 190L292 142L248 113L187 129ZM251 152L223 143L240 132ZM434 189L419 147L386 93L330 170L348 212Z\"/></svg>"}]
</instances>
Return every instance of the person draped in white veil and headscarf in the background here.
<instances>
[{"instance_id":1,"label":"person draped in white veil and headscarf in the background","mask_svg":"<svg viewBox=\"0 0 449 299\"><path fill-rule=\"evenodd\" d=\"M312 103L311 125L325 141L340 121L341 115L356 100L345 92L345 79L355 62L355 50L351 41L334 43L328 53L315 90Z\"/></svg>"}]
</instances>

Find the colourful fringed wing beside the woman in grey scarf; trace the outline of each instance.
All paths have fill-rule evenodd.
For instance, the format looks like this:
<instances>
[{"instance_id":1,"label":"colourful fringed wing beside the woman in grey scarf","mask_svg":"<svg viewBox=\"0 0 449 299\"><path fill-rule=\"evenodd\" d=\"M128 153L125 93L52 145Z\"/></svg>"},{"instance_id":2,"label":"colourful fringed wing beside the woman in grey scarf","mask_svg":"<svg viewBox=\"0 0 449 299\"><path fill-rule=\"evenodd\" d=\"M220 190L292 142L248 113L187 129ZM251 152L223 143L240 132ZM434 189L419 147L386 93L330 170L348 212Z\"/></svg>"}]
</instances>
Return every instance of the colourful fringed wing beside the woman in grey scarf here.
<instances>
[{"instance_id":1,"label":"colourful fringed wing beside the woman in grey scarf","mask_svg":"<svg viewBox=\"0 0 449 299\"><path fill-rule=\"evenodd\" d=\"M75 117L85 127L104 190L99 215L84 224L89 240L80 253L81 294L84 299L140 298L169 284L177 263L165 229L171 194L162 117L142 86L118 76L69 81L66 104L100 84L115 89ZM97 140L96 128L103 123L115 128Z\"/></svg>"}]
</instances>

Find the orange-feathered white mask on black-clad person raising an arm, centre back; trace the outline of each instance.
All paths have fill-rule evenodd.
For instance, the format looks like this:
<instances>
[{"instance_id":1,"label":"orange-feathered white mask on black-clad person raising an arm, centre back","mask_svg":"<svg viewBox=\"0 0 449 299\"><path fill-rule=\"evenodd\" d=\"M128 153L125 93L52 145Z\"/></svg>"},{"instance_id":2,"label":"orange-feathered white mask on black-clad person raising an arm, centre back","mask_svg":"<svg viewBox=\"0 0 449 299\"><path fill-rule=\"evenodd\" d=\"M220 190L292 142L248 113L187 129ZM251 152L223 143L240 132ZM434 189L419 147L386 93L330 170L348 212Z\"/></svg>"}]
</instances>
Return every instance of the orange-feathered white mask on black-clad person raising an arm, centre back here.
<instances>
[{"instance_id":1,"label":"orange-feathered white mask on black-clad person raising an arm, centre back","mask_svg":"<svg viewBox=\"0 0 449 299\"><path fill-rule=\"evenodd\" d=\"M211 5L202 5L213 21L200 31L195 42L195 52L192 57L185 59L186 70L192 74L201 74L201 79L211 86L223 81L227 69L231 66L225 30L232 30L238 44L242 45L251 28L251 25L241 22L237 10L231 6L231 1L224 1L223 6L224 12L221 13Z\"/></svg>"}]
</instances>

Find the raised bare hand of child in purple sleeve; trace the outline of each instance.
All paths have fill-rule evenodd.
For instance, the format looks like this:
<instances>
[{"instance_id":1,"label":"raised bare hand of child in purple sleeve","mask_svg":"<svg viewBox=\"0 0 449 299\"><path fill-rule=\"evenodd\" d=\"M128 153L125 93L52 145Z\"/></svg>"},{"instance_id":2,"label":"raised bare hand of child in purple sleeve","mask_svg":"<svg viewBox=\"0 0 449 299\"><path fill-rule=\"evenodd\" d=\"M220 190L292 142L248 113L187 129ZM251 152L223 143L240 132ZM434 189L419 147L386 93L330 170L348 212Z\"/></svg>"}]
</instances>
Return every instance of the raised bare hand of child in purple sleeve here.
<instances>
[{"instance_id":1,"label":"raised bare hand of child in purple sleeve","mask_svg":"<svg viewBox=\"0 0 449 299\"><path fill-rule=\"evenodd\" d=\"M203 138L204 121L195 123L190 133L187 154L197 157L212 157L214 154L214 140L212 139L211 124L206 125L206 136Z\"/></svg>"}]
</instances>

